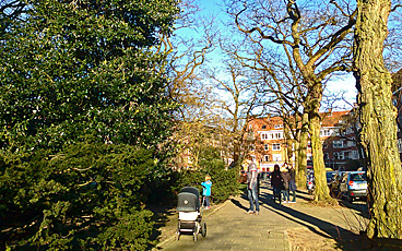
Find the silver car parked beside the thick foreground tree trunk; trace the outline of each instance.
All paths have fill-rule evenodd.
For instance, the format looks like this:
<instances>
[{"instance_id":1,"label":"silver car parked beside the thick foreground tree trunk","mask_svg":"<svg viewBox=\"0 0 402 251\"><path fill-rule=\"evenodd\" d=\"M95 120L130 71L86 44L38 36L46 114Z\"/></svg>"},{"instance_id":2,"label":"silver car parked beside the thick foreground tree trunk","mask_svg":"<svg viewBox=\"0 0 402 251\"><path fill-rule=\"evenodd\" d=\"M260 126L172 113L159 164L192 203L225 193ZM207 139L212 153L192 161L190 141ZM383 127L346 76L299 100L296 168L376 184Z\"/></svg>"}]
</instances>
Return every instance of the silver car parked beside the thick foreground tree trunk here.
<instances>
[{"instance_id":1,"label":"silver car parked beside the thick foreground tree trunk","mask_svg":"<svg viewBox=\"0 0 402 251\"><path fill-rule=\"evenodd\" d=\"M364 171L348 171L340 184L343 198L348 202L356 199L367 199L367 178Z\"/></svg>"}]
</instances>

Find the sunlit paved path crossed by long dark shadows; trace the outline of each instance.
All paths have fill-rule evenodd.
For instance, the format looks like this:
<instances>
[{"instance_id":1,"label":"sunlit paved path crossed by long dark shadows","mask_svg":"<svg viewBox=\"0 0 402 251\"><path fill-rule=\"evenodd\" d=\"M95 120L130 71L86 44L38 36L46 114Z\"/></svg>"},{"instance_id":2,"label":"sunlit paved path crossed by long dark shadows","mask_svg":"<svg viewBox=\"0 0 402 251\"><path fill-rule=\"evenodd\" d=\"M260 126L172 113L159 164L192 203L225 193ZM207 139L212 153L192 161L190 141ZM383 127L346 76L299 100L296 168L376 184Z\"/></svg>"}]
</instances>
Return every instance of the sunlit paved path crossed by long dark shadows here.
<instances>
[{"instance_id":1,"label":"sunlit paved path crossed by long dark shadows","mask_svg":"<svg viewBox=\"0 0 402 251\"><path fill-rule=\"evenodd\" d=\"M356 206L318 206L309 201L307 192L298 191L294 204L277 204L272 201L272 190L268 181L260 186L260 214L248 215L249 202L246 194L232 198L221 205L213 205L204 211L206 237L181 235L176 240L170 235L155 250L252 250L252 251L289 251L288 231L305 229L327 238L340 239L342 235L362 230L359 210L365 204ZM292 195L291 195L292 199ZM359 208L360 207L360 208ZM174 225L173 225L174 226ZM177 226L177 225L176 225Z\"/></svg>"}]
</instances>

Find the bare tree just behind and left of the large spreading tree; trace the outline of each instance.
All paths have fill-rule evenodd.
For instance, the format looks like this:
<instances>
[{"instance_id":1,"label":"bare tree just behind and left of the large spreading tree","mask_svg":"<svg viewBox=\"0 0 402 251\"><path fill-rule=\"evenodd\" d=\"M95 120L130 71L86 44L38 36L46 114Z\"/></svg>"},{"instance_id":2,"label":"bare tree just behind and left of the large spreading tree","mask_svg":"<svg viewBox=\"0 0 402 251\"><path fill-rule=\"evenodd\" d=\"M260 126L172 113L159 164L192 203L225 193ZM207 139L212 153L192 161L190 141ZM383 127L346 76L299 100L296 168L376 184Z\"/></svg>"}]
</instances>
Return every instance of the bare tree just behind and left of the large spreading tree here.
<instances>
[{"instance_id":1,"label":"bare tree just behind and left of the large spreading tree","mask_svg":"<svg viewBox=\"0 0 402 251\"><path fill-rule=\"evenodd\" d=\"M247 46L247 44L245 44ZM307 88L303 85L303 77L292 64L292 55L285 50L284 55L270 51L263 53L263 45L258 43L257 48L246 47L244 51L225 49L233 55L241 67L250 69L260 80L260 92L268 98L261 104L263 111L273 113L283 119L285 145L287 147L286 162L289 163L295 154L296 182L306 183L308 117L304 113ZM253 55L245 53L253 51ZM284 59L283 59L284 58ZM293 151L295 150L295 151Z\"/></svg>"}]
</instances>

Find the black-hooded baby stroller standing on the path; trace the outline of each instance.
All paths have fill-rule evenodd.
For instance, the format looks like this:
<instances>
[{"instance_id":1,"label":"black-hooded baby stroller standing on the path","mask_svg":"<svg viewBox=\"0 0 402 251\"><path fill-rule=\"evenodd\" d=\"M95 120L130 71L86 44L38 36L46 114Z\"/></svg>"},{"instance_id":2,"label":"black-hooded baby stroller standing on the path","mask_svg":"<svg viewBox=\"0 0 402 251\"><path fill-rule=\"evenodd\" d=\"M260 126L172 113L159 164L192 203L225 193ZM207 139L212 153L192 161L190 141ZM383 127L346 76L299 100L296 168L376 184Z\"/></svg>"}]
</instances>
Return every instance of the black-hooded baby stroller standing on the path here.
<instances>
[{"instance_id":1,"label":"black-hooded baby stroller standing on the path","mask_svg":"<svg viewBox=\"0 0 402 251\"><path fill-rule=\"evenodd\" d=\"M179 220L176 231L176 240L181 235L192 235L194 241L198 240L198 234L206 236L206 224L202 219L202 207L200 202L200 191L193 187L186 187L180 190L177 202Z\"/></svg>"}]
</instances>

